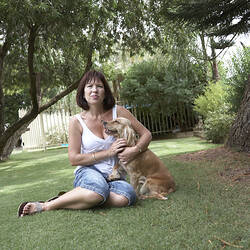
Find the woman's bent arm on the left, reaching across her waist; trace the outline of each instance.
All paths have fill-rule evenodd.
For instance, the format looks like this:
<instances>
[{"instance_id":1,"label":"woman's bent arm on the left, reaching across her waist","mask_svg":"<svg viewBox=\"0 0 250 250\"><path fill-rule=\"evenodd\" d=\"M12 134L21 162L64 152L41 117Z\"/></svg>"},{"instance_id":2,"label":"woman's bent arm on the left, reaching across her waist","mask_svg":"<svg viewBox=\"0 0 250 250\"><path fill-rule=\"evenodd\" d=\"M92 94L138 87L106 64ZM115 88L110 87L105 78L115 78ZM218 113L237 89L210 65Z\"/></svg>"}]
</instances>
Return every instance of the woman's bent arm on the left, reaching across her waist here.
<instances>
[{"instance_id":1,"label":"woman's bent arm on the left, reaching across her waist","mask_svg":"<svg viewBox=\"0 0 250 250\"><path fill-rule=\"evenodd\" d=\"M83 129L76 117L72 117L69 121L69 147L68 156L72 166L78 165L92 165L105 158L116 155L121 152L126 146L124 139L116 140L109 149L81 154L81 141Z\"/></svg>"}]
</instances>

